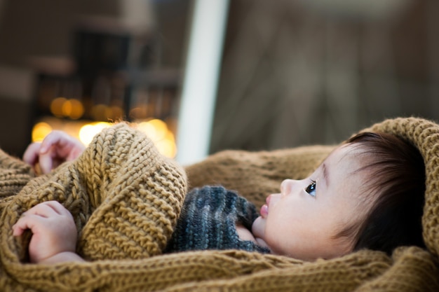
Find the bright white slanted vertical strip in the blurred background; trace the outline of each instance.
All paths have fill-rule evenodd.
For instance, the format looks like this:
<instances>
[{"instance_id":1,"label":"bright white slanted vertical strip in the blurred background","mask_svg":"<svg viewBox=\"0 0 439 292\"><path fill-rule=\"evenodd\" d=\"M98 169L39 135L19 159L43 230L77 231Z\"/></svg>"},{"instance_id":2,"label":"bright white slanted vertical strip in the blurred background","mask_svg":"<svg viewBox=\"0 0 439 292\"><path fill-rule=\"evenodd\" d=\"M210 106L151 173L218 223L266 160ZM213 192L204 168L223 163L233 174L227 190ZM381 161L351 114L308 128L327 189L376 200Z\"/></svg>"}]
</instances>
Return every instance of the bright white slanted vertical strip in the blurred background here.
<instances>
[{"instance_id":1,"label":"bright white slanted vertical strip in the blurred background","mask_svg":"<svg viewBox=\"0 0 439 292\"><path fill-rule=\"evenodd\" d=\"M177 129L182 165L209 152L228 0L195 0Z\"/></svg>"}]
</instances>

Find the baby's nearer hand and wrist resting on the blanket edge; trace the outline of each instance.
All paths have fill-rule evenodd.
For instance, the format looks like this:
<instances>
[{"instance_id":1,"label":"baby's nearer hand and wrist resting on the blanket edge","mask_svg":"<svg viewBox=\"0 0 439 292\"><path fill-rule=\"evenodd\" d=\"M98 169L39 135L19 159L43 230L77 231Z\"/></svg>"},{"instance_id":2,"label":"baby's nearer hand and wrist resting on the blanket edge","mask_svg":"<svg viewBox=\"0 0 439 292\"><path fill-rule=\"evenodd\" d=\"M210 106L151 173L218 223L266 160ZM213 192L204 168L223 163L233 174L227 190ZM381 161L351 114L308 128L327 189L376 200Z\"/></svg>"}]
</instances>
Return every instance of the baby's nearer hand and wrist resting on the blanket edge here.
<instances>
[{"instance_id":1,"label":"baby's nearer hand and wrist resting on the blanket edge","mask_svg":"<svg viewBox=\"0 0 439 292\"><path fill-rule=\"evenodd\" d=\"M27 229L32 231L31 263L83 261L75 253L77 231L72 214L59 202L43 202L29 209L13 225L13 235L20 236Z\"/></svg>"}]
</instances>

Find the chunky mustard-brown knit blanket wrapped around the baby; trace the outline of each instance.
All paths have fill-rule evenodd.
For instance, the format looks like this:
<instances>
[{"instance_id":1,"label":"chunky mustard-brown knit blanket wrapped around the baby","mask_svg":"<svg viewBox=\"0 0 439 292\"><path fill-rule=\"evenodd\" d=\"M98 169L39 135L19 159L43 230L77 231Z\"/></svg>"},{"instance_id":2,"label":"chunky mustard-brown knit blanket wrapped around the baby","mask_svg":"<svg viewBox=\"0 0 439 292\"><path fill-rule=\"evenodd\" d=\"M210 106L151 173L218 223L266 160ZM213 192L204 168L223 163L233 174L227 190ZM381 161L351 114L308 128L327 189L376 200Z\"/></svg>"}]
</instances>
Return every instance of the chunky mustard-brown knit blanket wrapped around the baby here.
<instances>
[{"instance_id":1,"label":"chunky mustard-brown knit blanket wrapped around the baby","mask_svg":"<svg viewBox=\"0 0 439 292\"><path fill-rule=\"evenodd\" d=\"M188 181L222 184L260 206L283 179L307 176L333 146L224 151L184 172L121 123L46 176L33 178L27 165L0 152L0 291L439 291L439 125L398 118L372 130L408 139L424 155L426 250L405 246L391 257L358 251L312 263L235 250L162 255ZM46 200L72 212L77 252L88 262L25 263L29 236L12 237L11 226Z\"/></svg>"}]
</instances>

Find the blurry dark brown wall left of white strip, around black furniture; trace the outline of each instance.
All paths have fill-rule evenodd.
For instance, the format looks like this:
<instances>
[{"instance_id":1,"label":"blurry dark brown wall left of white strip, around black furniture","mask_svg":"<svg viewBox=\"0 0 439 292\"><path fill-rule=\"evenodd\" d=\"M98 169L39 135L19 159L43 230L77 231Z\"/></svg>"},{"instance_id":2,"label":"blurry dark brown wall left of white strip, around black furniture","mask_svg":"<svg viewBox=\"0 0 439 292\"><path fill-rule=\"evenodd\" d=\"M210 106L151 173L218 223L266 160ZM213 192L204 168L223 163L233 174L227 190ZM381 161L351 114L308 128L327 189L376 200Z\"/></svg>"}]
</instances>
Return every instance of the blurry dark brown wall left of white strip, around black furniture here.
<instances>
[{"instance_id":1,"label":"blurry dark brown wall left of white strip, around black furniture","mask_svg":"<svg viewBox=\"0 0 439 292\"><path fill-rule=\"evenodd\" d=\"M189 0L0 0L0 148L20 156L29 144L36 76L73 70L75 29L149 34L149 66L173 73L182 64L188 8Z\"/></svg>"}]
</instances>

